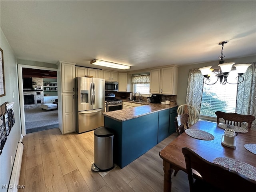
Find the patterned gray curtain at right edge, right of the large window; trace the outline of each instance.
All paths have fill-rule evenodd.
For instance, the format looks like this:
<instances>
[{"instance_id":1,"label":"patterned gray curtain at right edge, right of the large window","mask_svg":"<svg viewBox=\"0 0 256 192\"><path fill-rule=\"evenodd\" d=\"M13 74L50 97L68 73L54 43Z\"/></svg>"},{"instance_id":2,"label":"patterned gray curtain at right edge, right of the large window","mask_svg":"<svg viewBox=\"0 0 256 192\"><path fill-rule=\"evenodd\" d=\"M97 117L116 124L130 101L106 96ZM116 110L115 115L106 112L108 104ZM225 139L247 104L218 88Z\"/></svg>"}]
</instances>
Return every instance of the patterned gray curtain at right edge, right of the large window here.
<instances>
[{"instance_id":1,"label":"patterned gray curtain at right edge, right of the large window","mask_svg":"<svg viewBox=\"0 0 256 192\"><path fill-rule=\"evenodd\" d=\"M250 63L244 81L237 86L236 113L256 116L256 62ZM256 130L256 120L252 123L252 130Z\"/></svg>"}]
</instances>

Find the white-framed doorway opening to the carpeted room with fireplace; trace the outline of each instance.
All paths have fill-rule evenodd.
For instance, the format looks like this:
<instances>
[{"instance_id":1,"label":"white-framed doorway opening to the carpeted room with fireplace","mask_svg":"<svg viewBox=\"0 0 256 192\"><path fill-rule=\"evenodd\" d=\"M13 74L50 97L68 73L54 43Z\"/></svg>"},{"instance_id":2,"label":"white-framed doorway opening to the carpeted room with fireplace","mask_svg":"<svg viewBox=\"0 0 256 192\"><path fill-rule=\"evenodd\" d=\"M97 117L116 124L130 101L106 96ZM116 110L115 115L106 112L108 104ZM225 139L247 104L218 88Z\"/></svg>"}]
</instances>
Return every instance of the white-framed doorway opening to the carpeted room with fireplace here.
<instances>
[{"instance_id":1,"label":"white-framed doorway opening to the carpeted room with fireplace","mask_svg":"<svg viewBox=\"0 0 256 192\"><path fill-rule=\"evenodd\" d=\"M58 128L57 69L18 64L18 77L22 135ZM51 87L46 82L52 82ZM41 108L41 104L53 102L56 108Z\"/></svg>"}]
</instances>

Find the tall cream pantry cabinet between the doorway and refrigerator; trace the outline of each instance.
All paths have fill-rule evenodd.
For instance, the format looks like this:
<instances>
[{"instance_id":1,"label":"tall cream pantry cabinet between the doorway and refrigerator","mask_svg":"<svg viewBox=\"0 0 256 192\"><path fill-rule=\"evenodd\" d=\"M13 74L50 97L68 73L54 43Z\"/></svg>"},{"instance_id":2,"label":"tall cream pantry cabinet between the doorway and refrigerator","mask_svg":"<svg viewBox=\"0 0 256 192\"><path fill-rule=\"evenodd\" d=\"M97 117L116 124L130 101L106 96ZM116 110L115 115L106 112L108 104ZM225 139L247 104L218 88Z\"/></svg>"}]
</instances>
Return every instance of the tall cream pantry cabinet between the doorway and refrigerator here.
<instances>
[{"instance_id":1,"label":"tall cream pantry cabinet between the doorway and refrigerator","mask_svg":"<svg viewBox=\"0 0 256 192\"><path fill-rule=\"evenodd\" d=\"M58 117L62 134L76 131L75 63L58 61Z\"/></svg>"}]
</instances>

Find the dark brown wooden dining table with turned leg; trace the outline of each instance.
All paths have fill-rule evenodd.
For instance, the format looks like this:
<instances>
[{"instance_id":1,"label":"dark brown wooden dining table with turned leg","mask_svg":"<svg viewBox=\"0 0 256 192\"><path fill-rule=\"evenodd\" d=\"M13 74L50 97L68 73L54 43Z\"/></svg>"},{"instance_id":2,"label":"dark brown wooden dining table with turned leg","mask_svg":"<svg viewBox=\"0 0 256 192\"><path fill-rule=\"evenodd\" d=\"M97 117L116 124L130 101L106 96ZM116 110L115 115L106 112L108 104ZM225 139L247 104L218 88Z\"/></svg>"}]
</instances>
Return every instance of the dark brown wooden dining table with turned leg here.
<instances>
[{"instance_id":1,"label":"dark brown wooden dining table with turned leg","mask_svg":"<svg viewBox=\"0 0 256 192\"><path fill-rule=\"evenodd\" d=\"M236 136L236 147L230 148L221 143L224 129L219 128L217 123L198 121L190 129L208 132L214 136L214 139L200 140L188 136L186 132L183 132L170 144L160 150L159 155L163 160L164 166L164 192L170 192L172 189L171 175L173 170L186 172L185 158L181 150L183 147L190 148L209 162L213 162L217 157L227 157L256 167L256 154L253 154L244 147L245 144L256 144L255 130L248 130L248 133L238 133Z\"/></svg>"}]
</instances>

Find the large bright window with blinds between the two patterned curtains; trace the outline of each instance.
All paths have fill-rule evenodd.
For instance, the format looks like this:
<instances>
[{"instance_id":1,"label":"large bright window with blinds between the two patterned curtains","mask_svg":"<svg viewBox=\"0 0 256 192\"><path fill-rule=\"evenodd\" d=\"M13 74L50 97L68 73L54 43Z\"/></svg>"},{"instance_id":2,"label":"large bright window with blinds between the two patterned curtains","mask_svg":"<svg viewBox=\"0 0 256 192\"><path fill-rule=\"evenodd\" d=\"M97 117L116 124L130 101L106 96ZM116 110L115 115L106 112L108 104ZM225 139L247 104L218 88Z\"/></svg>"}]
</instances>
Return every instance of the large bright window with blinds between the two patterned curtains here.
<instances>
[{"instance_id":1,"label":"large bright window with blinds between the two patterned curtains","mask_svg":"<svg viewBox=\"0 0 256 192\"><path fill-rule=\"evenodd\" d=\"M212 76L211 82L215 82L216 77L214 74ZM236 71L231 71L228 75L228 82L234 83L237 76ZM214 85L204 84L200 115L216 117L216 111L236 112L236 94L237 84L222 85L220 82Z\"/></svg>"}]
</instances>

